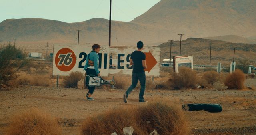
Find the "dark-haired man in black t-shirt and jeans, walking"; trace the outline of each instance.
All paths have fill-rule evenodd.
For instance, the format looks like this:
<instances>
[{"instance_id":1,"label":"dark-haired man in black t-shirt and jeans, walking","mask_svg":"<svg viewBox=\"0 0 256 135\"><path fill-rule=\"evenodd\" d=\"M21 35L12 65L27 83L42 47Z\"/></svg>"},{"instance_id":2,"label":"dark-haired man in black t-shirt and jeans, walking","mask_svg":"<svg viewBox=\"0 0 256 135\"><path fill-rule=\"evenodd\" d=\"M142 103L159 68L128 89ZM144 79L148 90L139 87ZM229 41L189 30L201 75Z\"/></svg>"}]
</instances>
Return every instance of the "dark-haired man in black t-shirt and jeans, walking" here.
<instances>
[{"instance_id":1,"label":"dark-haired man in black t-shirt and jeans, walking","mask_svg":"<svg viewBox=\"0 0 256 135\"><path fill-rule=\"evenodd\" d=\"M130 65L133 66L132 69L132 85L127 89L124 93L124 103L127 103L128 95L131 93L133 89L135 89L138 81L140 81L140 94L139 94L139 102L148 102L144 100L144 92L146 88L146 75L144 69L147 68L146 65L146 55L141 52L143 49L143 42L139 41L137 43L138 50L132 52L130 58Z\"/></svg>"}]
</instances>

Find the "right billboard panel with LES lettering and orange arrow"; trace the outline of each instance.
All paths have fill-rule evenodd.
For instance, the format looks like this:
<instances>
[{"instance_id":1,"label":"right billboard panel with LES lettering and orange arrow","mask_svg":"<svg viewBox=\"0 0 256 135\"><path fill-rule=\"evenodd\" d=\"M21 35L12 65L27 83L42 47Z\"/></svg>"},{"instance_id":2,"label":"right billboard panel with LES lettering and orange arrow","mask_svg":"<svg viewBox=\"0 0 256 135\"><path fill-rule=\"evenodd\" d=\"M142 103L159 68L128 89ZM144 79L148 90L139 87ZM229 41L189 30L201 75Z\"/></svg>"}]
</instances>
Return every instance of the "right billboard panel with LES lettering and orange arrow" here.
<instances>
[{"instance_id":1,"label":"right billboard panel with LES lettering and orange arrow","mask_svg":"<svg viewBox=\"0 0 256 135\"><path fill-rule=\"evenodd\" d=\"M132 67L129 65L132 52L137 50L136 46L111 46L110 47L110 74L132 75ZM160 48L144 47L142 52L146 54L145 69L147 76L160 75Z\"/></svg>"}]
</instances>

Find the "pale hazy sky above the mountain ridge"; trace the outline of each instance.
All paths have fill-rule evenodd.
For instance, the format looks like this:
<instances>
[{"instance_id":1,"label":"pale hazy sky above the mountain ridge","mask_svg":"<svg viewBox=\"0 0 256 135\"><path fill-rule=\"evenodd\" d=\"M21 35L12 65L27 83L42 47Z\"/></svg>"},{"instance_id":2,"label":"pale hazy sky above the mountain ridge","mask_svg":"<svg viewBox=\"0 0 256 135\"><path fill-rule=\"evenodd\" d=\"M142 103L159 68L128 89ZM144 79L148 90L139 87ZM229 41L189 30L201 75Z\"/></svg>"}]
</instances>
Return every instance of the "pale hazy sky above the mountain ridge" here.
<instances>
[{"instance_id":1,"label":"pale hazy sky above the mountain ridge","mask_svg":"<svg viewBox=\"0 0 256 135\"><path fill-rule=\"evenodd\" d=\"M44 18L62 22L109 19L110 0L0 0L0 22ZM111 20L130 22L160 0L112 0Z\"/></svg>"}]
</instances>

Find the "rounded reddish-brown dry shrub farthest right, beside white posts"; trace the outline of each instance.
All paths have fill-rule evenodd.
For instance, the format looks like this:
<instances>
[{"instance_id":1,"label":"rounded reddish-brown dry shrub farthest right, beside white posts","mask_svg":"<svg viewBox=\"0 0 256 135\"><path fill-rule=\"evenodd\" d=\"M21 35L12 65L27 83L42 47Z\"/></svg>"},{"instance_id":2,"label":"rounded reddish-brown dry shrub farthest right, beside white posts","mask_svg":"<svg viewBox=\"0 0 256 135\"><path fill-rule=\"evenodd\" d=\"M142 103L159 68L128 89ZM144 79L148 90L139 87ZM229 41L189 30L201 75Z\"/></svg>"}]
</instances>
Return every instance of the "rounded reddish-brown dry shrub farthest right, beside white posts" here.
<instances>
[{"instance_id":1,"label":"rounded reddish-brown dry shrub farthest right, beside white posts","mask_svg":"<svg viewBox=\"0 0 256 135\"><path fill-rule=\"evenodd\" d=\"M224 81L228 89L243 89L245 82L245 75L240 69L236 69L234 73L229 74Z\"/></svg>"}]
</instances>

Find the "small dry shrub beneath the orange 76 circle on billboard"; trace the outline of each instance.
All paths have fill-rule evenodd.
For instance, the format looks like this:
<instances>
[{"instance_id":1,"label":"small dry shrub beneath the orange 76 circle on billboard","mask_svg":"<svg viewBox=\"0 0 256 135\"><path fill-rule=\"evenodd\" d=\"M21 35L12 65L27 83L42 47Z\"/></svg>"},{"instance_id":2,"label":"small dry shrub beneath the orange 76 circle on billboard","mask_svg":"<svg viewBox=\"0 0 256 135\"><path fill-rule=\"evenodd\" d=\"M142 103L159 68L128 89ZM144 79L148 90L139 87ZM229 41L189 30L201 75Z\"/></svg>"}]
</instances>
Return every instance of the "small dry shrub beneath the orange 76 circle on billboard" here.
<instances>
[{"instance_id":1,"label":"small dry shrub beneath the orange 76 circle on billboard","mask_svg":"<svg viewBox=\"0 0 256 135\"><path fill-rule=\"evenodd\" d=\"M63 85L64 87L77 87L77 82L80 81L82 78L84 77L84 74L79 72L79 71L75 71L75 72L71 72L68 76L64 77L63 80Z\"/></svg>"}]
</instances>

